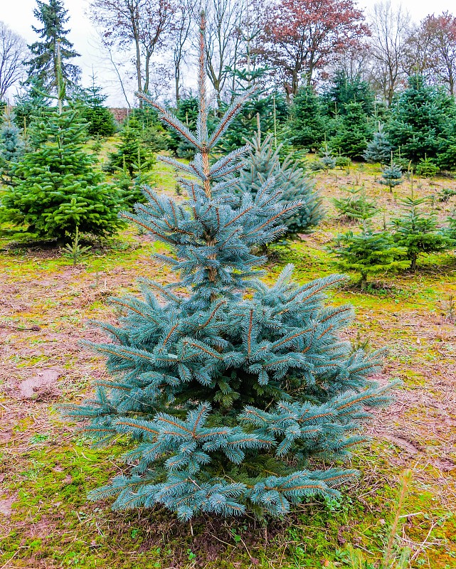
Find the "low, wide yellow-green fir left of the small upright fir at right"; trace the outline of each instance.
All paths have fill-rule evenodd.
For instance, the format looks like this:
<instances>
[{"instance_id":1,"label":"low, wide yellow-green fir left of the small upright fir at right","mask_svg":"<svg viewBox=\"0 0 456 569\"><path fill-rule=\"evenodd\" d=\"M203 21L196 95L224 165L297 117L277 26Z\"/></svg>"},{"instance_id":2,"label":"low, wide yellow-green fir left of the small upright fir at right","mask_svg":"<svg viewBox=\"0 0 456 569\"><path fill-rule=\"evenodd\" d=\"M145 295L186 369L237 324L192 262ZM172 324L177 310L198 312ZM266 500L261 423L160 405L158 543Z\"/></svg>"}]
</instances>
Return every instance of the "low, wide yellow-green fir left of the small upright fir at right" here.
<instances>
[{"instance_id":1,"label":"low, wide yellow-green fir left of the small upright fir at right","mask_svg":"<svg viewBox=\"0 0 456 569\"><path fill-rule=\"evenodd\" d=\"M366 289L369 275L381 275L408 267L407 250L394 243L386 231L372 231L365 223L361 233L348 231L338 235L332 252L344 270L359 272L361 289Z\"/></svg>"}]
</instances>

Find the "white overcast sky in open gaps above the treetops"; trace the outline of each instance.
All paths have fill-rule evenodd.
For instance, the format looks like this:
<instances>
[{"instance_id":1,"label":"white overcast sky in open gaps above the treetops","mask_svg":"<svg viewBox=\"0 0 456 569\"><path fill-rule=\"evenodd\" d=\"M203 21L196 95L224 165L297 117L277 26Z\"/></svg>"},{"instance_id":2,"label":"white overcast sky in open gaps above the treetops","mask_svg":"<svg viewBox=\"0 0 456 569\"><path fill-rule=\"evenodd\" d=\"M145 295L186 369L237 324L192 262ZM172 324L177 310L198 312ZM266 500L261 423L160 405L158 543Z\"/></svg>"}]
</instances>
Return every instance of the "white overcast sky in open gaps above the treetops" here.
<instances>
[{"instance_id":1,"label":"white overcast sky in open gaps above the treetops","mask_svg":"<svg viewBox=\"0 0 456 569\"><path fill-rule=\"evenodd\" d=\"M376 0L359 0L359 6L364 9L371 9ZM36 33L31 26L37 26L38 22L33 17L33 9L36 0L0 0L0 20L7 23L14 31L18 32L26 39L27 43L36 40ZM125 99L119 87L119 81L109 60L102 57L100 40L97 32L93 28L87 16L90 0L65 0L65 8L68 9L70 21L68 27L71 29L69 34L70 41L74 43L75 49L81 54L78 58L78 65L83 70L83 84L90 83L92 69L97 76L97 83L105 88L109 95L108 104L111 106L125 106ZM408 10L413 21L420 21L428 14L441 14L442 11L455 11L454 0L402 0L392 1L393 6L402 6ZM132 89L129 92L130 102L133 103Z\"/></svg>"}]
</instances>

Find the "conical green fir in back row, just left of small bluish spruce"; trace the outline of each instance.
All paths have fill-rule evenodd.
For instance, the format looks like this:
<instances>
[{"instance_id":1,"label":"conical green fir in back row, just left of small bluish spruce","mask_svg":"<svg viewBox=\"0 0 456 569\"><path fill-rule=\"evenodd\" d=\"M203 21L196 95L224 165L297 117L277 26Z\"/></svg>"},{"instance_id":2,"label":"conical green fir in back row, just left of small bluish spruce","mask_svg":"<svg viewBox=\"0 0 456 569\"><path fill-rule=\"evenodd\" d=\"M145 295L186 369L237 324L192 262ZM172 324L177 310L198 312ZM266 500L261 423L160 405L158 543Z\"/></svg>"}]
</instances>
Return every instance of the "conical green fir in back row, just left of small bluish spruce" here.
<instances>
[{"instance_id":1,"label":"conical green fir in back row, just left of small bluish spruce","mask_svg":"<svg viewBox=\"0 0 456 569\"><path fill-rule=\"evenodd\" d=\"M351 102L346 105L339 129L336 136L330 140L329 145L344 156L362 159L371 136L372 131L368 124L368 117L361 103Z\"/></svg>"}]
</instances>

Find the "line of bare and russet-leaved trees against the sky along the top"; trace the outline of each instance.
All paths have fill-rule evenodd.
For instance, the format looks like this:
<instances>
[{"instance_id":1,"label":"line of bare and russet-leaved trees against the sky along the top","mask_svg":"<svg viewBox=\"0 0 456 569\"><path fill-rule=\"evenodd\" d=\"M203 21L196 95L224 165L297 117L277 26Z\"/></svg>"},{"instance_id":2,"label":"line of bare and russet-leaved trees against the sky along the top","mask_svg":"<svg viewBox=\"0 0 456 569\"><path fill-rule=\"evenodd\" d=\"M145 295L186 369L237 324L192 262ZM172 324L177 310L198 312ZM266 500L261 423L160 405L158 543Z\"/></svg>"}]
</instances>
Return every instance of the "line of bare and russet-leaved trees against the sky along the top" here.
<instances>
[{"instance_id":1,"label":"line of bare and russet-leaved trees against the sky along the top","mask_svg":"<svg viewBox=\"0 0 456 569\"><path fill-rule=\"evenodd\" d=\"M61 0L37 4L35 14L48 21L64 11ZM131 68L137 90L176 102L195 88L193 38L201 8L208 18L206 70L219 106L232 99L235 72L243 68L264 68L263 85L289 100L302 85L321 88L340 69L350 79L366 80L388 106L415 73L455 94L456 18L449 12L413 23L389 0L368 15L353 0L92 0L90 18L112 62L120 58ZM68 78L77 82L78 54L65 43L65 21L57 18L55 26L68 56ZM34 29L42 34L44 28ZM0 26L1 99L24 71L50 75L41 61L49 47L33 43L27 54L20 36Z\"/></svg>"}]
</instances>

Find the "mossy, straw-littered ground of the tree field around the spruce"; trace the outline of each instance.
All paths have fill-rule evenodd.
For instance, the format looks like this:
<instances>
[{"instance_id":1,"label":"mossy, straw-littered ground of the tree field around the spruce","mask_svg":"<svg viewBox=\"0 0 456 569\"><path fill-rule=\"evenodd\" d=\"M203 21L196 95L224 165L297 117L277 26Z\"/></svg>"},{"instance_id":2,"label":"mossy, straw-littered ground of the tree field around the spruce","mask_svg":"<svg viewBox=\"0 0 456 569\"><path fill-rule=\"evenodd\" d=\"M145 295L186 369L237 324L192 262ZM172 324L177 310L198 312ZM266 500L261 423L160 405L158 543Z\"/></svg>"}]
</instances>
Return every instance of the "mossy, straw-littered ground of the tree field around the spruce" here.
<instances>
[{"instance_id":1,"label":"mossy, straw-littered ground of the tree field around the spruce","mask_svg":"<svg viewBox=\"0 0 456 569\"><path fill-rule=\"evenodd\" d=\"M107 146L112 139L102 156ZM179 199L170 166L157 163L152 174L159 191ZM326 216L313 233L267 249L268 283L287 263L299 283L338 271L329 245L359 225L334 208L332 198L346 195L344 188L364 187L378 207L371 219L378 230L400 213L411 184L415 197L433 196L440 225L456 206L455 196L440 201L456 191L453 177L414 176L389 192L378 184L379 165L312 176ZM341 499L309 498L267 524L250 515L182 523L165 509L114 512L112 500L88 501L88 491L125 468L120 454L129 443L117 437L108 447L90 447L55 410L88 395L94 378L108 378L104 358L78 344L104 339L90 319L115 323L107 299L137 294L137 277L175 279L152 259L165 245L124 228L107 240L83 240L91 248L73 266L63 247L17 245L13 234L4 226L0 253L0 567L368 569L378 566L391 536L394 551L410 548L411 568L456 566L454 252L420 255L416 271L369 276L363 290L353 272L332 292L334 304L356 309L346 339L366 351L386 347L378 381L402 381L393 405L369 422L371 440L354 451L349 462L361 476L343 487ZM405 469L410 480L401 482ZM350 546L364 565L349 560Z\"/></svg>"}]
</instances>

